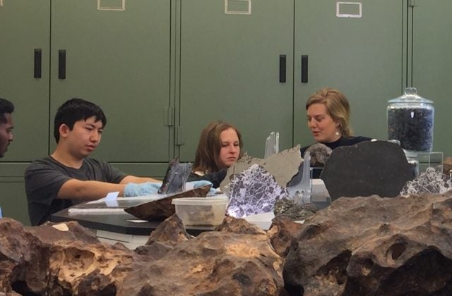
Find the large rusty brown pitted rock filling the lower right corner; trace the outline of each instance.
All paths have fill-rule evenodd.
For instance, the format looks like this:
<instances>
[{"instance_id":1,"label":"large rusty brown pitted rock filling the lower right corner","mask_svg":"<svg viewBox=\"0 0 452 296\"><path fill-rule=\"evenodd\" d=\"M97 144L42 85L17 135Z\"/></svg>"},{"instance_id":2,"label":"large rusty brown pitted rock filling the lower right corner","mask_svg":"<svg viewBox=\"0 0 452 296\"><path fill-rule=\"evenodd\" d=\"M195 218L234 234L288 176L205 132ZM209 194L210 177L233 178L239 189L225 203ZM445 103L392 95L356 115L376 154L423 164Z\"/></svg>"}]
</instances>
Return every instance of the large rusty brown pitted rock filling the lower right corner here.
<instances>
[{"instance_id":1,"label":"large rusty brown pitted rock filling the lower right corner","mask_svg":"<svg viewBox=\"0 0 452 296\"><path fill-rule=\"evenodd\" d=\"M340 198L307 218L284 266L291 295L451 295L452 192Z\"/></svg>"}]
</instances>

